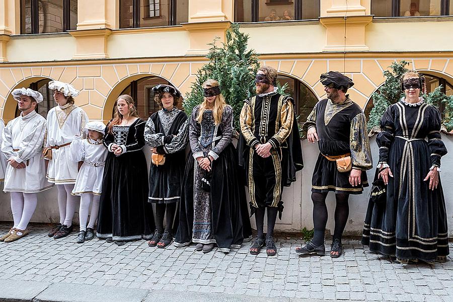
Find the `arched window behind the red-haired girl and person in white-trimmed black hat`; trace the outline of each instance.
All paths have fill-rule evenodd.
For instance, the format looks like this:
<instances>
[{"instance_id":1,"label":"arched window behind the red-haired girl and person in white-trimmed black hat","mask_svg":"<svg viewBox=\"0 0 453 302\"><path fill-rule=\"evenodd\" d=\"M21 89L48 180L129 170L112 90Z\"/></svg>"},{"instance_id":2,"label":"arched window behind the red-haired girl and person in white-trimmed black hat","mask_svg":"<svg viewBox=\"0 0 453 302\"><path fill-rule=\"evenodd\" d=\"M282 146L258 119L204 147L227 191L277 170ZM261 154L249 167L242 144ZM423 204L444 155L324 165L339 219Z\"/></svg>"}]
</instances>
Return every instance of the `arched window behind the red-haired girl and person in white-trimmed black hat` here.
<instances>
[{"instance_id":1,"label":"arched window behind the red-haired girl and person in white-trimmed black hat","mask_svg":"<svg viewBox=\"0 0 453 302\"><path fill-rule=\"evenodd\" d=\"M154 101L153 87L158 84L172 85L168 81L159 77L145 77L136 81L132 81L121 94L128 94L134 99L135 107L137 107L138 115L142 119L147 119L153 113L160 109L159 105ZM115 104L116 106L116 104ZM113 106L113 112L115 112ZM181 102L178 108L182 109Z\"/></svg>"}]
</instances>

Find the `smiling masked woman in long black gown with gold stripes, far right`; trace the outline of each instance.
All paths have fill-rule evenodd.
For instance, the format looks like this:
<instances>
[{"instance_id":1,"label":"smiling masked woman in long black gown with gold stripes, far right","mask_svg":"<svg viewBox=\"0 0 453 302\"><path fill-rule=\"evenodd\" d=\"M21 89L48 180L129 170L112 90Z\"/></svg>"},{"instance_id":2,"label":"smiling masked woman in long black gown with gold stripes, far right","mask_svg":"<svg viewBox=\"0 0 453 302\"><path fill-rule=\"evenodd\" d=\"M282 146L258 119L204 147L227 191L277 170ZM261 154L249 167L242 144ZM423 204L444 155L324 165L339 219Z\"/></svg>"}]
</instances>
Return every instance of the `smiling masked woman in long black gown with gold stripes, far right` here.
<instances>
[{"instance_id":1,"label":"smiling masked woman in long black gown with gold stripes, far right","mask_svg":"<svg viewBox=\"0 0 453 302\"><path fill-rule=\"evenodd\" d=\"M402 80L406 96L387 108L376 137L380 176L387 202L368 204L362 243L370 251L396 256L399 262L446 261L447 217L440 183L440 158L447 153L440 138L439 110L419 97L420 73Z\"/></svg>"}]
</instances>

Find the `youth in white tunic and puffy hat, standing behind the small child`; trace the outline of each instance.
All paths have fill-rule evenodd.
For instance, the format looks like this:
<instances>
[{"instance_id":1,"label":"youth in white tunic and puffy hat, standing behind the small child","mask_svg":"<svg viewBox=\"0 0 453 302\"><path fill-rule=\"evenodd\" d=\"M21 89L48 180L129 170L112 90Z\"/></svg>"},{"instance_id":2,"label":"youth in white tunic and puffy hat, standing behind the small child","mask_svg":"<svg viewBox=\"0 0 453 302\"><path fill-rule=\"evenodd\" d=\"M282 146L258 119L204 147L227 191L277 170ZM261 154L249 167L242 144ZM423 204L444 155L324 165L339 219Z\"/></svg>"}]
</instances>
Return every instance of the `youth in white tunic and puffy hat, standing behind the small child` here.
<instances>
[{"instance_id":1,"label":"youth in white tunic and puffy hat, standing behind the small child","mask_svg":"<svg viewBox=\"0 0 453 302\"><path fill-rule=\"evenodd\" d=\"M47 179L58 189L58 209L60 223L53 228L49 237L59 239L72 232L72 217L79 200L71 195L78 173L78 163L70 161L69 144L74 135L81 135L88 122L88 116L81 108L74 105L74 99L79 91L72 85L50 81L49 89L53 90L53 98L58 106L53 107L47 114L46 147L51 149L47 168Z\"/></svg>"}]
</instances>

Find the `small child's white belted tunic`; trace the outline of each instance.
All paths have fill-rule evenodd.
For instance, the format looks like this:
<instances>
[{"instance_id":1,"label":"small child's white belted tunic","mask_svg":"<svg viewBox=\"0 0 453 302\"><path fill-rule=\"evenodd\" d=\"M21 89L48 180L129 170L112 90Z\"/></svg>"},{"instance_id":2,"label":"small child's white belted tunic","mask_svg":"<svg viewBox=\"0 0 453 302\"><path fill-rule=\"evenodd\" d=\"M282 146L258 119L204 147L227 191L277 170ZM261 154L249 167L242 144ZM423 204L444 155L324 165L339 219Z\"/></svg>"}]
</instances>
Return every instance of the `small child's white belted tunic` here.
<instances>
[{"instance_id":1,"label":"small child's white belted tunic","mask_svg":"<svg viewBox=\"0 0 453 302\"><path fill-rule=\"evenodd\" d=\"M101 195L102 177L107 158L107 149L102 142L90 138L74 139L69 147L70 160L84 162L75 181L72 195L91 193Z\"/></svg>"}]
</instances>

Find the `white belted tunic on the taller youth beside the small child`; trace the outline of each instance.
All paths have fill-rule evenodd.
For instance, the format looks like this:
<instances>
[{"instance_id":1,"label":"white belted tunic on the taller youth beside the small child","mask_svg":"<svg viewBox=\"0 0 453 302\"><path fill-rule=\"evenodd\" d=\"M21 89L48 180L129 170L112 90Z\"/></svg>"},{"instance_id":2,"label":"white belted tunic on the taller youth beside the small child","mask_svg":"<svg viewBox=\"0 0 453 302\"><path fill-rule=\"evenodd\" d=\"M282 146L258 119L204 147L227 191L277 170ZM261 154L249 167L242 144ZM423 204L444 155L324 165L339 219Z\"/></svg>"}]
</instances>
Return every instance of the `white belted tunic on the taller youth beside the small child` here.
<instances>
[{"instance_id":1,"label":"white belted tunic on the taller youth beside the small child","mask_svg":"<svg viewBox=\"0 0 453 302\"><path fill-rule=\"evenodd\" d=\"M56 106L47 114L46 147L71 142L75 135L82 135L88 116L74 104ZM52 159L47 167L47 179L56 185L75 184L78 164L69 159L69 146L52 149Z\"/></svg>"}]
</instances>

